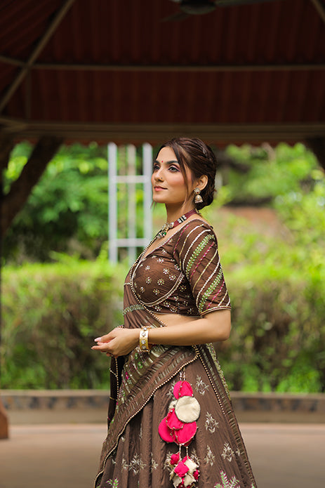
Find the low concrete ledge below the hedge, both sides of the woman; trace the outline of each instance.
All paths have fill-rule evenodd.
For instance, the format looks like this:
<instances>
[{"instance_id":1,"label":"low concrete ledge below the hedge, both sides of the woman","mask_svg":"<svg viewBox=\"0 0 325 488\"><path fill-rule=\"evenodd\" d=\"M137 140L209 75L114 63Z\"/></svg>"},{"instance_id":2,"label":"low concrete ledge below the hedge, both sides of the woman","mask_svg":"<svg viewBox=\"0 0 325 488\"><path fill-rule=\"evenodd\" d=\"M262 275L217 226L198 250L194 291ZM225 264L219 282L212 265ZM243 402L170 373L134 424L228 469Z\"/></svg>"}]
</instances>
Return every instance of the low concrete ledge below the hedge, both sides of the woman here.
<instances>
[{"instance_id":1,"label":"low concrete ledge below the hedge, both sides of the woman","mask_svg":"<svg viewBox=\"0 0 325 488\"><path fill-rule=\"evenodd\" d=\"M239 422L325 423L324 394L232 392ZM105 390L0 390L10 423L103 422Z\"/></svg>"}]
</instances>

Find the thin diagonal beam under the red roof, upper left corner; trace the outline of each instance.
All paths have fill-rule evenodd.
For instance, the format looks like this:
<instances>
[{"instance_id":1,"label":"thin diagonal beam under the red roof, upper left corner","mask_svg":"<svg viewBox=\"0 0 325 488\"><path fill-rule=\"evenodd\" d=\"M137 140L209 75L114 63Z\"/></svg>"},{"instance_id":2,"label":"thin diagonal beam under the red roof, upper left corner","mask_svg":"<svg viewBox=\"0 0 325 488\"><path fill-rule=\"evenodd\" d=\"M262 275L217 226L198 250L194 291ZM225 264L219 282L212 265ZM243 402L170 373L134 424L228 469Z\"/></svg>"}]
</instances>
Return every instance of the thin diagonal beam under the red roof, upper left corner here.
<instances>
[{"instance_id":1,"label":"thin diagonal beam under the red roof, upper left corner","mask_svg":"<svg viewBox=\"0 0 325 488\"><path fill-rule=\"evenodd\" d=\"M61 8L59 9L57 14L53 18L51 24L46 29L46 32L44 32L43 37L41 37L41 39L39 39L37 46L34 48L34 51L32 51L32 54L29 56L27 62L22 66L20 72L15 77L15 79L13 80L13 83L9 86L4 97L2 98L2 100L0 102L0 113L4 110L4 107L6 107L8 100L11 99L11 96L13 95L13 93L15 93L18 86L21 84L22 80L26 77L26 75L29 72L30 68L32 67L34 61L39 56L39 53L41 53L44 46L46 46L46 43L48 42L50 37L53 35L53 32L55 31L55 29L60 24L62 18L65 17L67 11L69 10L69 8L72 6L73 3L74 3L74 0L65 0L65 2L62 4Z\"/></svg>"}]
</instances>

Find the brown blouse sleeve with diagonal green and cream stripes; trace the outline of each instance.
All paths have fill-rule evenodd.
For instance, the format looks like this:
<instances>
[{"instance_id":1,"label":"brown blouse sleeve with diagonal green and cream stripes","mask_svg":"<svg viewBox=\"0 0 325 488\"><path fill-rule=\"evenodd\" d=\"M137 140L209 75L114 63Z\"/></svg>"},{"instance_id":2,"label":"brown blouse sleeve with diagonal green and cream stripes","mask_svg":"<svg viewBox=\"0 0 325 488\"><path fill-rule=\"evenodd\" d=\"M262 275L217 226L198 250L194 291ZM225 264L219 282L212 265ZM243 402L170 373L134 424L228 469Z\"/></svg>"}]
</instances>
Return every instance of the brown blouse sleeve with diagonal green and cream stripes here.
<instances>
[{"instance_id":1,"label":"brown blouse sleeve with diagonal green and cream stripes","mask_svg":"<svg viewBox=\"0 0 325 488\"><path fill-rule=\"evenodd\" d=\"M190 220L178 233L174 258L190 283L200 315L230 309L215 233L203 220Z\"/></svg>"}]
</instances>

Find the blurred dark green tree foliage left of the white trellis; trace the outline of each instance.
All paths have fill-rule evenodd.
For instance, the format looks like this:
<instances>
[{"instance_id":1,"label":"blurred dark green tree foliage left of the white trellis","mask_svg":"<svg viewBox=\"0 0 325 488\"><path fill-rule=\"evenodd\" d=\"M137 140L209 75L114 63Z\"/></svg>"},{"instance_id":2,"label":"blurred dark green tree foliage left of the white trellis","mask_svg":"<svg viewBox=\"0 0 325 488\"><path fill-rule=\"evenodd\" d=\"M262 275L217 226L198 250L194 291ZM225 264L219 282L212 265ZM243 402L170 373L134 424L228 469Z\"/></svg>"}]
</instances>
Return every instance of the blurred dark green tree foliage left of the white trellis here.
<instances>
[{"instance_id":1,"label":"blurred dark green tree foliage left of the white trellis","mask_svg":"<svg viewBox=\"0 0 325 488\"><path fill-rule=\"evenodd\" d=\"M15 147L4 175L5 192L30 150L27 143ZM48 261L51 251L65 251L93 258L107 240L107 213L105 148L95 143L62 147L15 218L4 239L4 256Z\"/></svg>"}]
</instances>

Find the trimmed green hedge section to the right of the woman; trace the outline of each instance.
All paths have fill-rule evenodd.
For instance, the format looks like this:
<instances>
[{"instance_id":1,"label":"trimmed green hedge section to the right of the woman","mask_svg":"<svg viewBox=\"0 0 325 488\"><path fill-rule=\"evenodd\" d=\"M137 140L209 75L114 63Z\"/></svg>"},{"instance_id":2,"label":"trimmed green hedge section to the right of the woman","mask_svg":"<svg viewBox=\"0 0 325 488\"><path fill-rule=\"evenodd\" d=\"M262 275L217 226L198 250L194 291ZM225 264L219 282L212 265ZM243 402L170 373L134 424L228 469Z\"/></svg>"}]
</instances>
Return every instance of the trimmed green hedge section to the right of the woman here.
<instances>
[{"instance_id":1,"label":"trimmed green hedge section to the right of the woman","mask_svg":"<svg viewBox=\"0 0 325 488\"><path fill-rule=\"evenodd\" d=\"M232 334L217 349L231 389L325 391L324 277L265 263L228 275Z\"/></svg>"}]
</instances>

